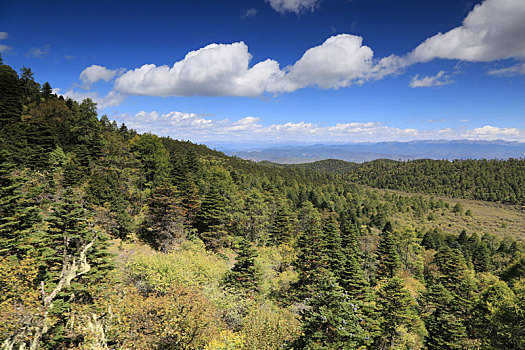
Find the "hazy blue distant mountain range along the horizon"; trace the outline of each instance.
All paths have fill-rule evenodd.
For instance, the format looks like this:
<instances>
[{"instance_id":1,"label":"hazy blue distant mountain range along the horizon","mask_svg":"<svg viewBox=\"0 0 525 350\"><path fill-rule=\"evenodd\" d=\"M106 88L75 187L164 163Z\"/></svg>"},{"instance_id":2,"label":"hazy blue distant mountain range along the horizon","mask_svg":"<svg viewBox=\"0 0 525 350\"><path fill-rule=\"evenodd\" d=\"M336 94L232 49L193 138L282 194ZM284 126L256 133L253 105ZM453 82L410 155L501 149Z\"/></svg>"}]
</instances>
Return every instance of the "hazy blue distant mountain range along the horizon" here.
<instances>
[{"instance_id":1,"label":"hazy blue distant mountain range along the horizon","mask_svg":"<svg viewBox=\"0 0 525 350\"><path fill-rule=\"evenodd\" d=\"M524 158L525 143L508 141L428 140L356 143L346 145L278 146L259 150L225 150L230 156L281 164L341 159L366 162L374 159L506 159Z\"/></svg>"}]
</instances>

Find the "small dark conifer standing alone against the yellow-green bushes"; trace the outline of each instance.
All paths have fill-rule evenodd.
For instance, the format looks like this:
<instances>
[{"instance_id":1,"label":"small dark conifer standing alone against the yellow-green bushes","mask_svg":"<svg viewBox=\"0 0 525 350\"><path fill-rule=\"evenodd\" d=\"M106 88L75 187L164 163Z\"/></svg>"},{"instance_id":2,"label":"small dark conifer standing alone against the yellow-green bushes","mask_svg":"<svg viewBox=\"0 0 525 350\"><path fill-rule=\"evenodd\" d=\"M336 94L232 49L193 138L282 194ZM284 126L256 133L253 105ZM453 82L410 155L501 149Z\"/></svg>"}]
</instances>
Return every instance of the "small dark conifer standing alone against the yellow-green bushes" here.
<instances>
[{"instance_id":1,"label":"small dark conifer standing alone against the yellow-green bushes","mask_svg":"<svg viewBox=\"0 0 525 350\"><path fill-rule=\"evenodd\" d=\"M226 285L246 294L254 294L259 289L260 273L255 266L256 250L244 238L239 238L235 252L235 265L226 276Z\"/></svg>"}]
</instances>

